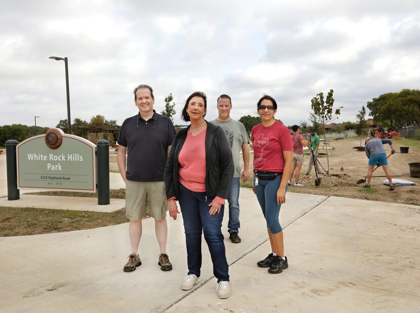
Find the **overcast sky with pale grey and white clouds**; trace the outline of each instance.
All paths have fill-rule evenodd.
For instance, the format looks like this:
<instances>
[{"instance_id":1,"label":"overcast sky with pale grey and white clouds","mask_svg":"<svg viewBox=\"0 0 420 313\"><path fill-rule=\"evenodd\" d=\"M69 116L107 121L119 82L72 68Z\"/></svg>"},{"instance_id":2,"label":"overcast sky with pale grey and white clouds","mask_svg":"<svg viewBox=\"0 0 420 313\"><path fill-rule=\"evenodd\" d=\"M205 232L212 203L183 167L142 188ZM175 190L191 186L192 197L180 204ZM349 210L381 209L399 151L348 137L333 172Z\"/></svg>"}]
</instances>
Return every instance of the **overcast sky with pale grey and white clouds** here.
<instances>
[{"instance_id":1,"label":"overcast sky with pale grey and white clouds","mask_svg":"<svg viewBox=\"0 0 420 313\"><path fill-rule=\"evenodd\" d=\"M207 120L220 94L231 116L256 114L268 94L286 125L308 120L311 98L334 90L340 121L374 97L420 86L420 2L2 1L0 125L54 127L101 114L118 125L138 110L133 89L153 87L154 108L175 98L175 123L194 91Z\"/></svg>"}]
</instances>

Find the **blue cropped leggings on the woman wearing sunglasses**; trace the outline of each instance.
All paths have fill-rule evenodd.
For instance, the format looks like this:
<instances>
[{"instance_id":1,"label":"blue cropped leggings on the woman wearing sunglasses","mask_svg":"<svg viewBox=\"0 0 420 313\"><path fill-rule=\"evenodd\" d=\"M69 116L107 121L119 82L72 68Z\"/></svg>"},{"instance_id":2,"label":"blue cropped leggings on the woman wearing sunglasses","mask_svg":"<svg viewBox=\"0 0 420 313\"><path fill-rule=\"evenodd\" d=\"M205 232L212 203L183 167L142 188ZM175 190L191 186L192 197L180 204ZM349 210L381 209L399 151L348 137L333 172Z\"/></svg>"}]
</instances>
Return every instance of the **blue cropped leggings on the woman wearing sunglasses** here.
<instances>
[{"instance_id":1,"label":"blue cropped leggings on the woman wearing sunglasses","mask_svg":"<svg viewBox=\"0 0 420 313\"><path fill-rule=\"evenodd\" d=\"M275 180L258 180L258 186L254 188L257 194L257 200L260 203L266 219L267 228L270 229L271 234L277 234L282 231L278 216L280 214L281 204L277 204L277 190L280 186L282 176L277 176ZM287 186L286 186L287 192Z\"/></svg>"}]
</instances>

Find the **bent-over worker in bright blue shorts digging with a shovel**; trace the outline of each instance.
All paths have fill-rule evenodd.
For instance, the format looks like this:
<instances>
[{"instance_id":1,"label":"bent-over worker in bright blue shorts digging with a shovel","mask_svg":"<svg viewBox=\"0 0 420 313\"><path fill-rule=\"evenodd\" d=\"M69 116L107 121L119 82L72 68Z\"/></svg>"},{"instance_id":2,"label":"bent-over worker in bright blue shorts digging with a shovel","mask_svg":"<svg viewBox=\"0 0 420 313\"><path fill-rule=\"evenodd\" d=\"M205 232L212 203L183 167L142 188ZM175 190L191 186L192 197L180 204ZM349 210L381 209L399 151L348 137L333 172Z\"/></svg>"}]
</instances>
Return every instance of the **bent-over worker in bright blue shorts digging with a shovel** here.
<instances>
[{"instance_id":1,"label":"bent-over worker in bright blue shorts digging with a shovel","mask_svg":"<svg viewBox=\"0 0 420 313\"><path fill-rule=\"evenodd\" d=\"M389 189L394 190L394 185L392 185L392 176L388 168L387 155L385 154L383 146L385 144L389 144L391 146L391 154L394 154L395 149L391 139L372 139L367 137L365 140L364 149L366 156L369 159L369 167L367 168L367 183L363 186L364 188L370 188L373 167L377 165L382 166L382 169L384 170L385 175L387 175L389 181Z\"/></svg>"}]
</instances>

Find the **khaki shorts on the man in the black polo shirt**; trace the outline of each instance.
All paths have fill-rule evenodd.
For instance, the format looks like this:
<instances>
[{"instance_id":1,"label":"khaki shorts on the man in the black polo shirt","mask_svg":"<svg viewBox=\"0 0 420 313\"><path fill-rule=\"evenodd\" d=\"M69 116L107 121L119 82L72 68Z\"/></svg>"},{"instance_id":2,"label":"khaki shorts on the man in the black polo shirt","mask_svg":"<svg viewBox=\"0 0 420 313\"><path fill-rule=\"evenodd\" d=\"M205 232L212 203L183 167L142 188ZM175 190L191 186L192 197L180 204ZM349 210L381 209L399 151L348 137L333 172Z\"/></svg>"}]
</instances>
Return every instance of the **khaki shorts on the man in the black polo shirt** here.
<instances>
[{"instance_id":1,"label":"khaki shorts on the man in the black polo shirt","mask_svg":"<svg viewBox=\"0 0 420 313\"><path fill-rule=\"evenodd\" d=\"M125 216L130 220L146 217L147 199L156 220L166 217L167 199L164 182L125 181Z\"/></svg>"}]
</instances>

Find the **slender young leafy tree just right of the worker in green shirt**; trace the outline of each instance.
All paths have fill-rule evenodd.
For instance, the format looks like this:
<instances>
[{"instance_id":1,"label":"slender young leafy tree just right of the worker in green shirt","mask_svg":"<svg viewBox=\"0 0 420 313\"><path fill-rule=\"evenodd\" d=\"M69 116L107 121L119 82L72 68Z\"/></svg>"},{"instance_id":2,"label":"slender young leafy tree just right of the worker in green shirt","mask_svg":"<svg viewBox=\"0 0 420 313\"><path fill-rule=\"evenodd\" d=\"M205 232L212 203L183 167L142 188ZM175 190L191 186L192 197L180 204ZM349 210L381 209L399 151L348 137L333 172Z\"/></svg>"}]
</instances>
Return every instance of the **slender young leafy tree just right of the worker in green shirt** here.
<instances>
[{"instance_id":1,"label":"slender young leafy tree just right of the worker in green shirt","mask_svg":"<svg viewBox=\"0 0 420 313\"><path fill-rule=\"evenodd\" d=\"M338 116L340 115L340 109L343 108L343 107L340 107L339 109L336 109L334 113L332 113L332 106L334 105L334 98L332 97L333 93L334 91L330 89L325 101L324 101L323 93L317 94L316 97L312 98L311 100L311 108L314 111L313 114L316 117L315 120L318 120L319 123L322 125L325 141L326 141L325 124L330 123L333 120L337 119ZM327 145L325 145L325 153L327 155L327 166L328 166L327 175L329 176L329 159L328 159Z\"/></svg>"}]
</instances>

